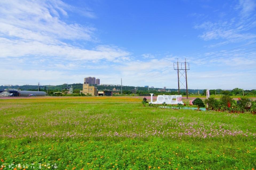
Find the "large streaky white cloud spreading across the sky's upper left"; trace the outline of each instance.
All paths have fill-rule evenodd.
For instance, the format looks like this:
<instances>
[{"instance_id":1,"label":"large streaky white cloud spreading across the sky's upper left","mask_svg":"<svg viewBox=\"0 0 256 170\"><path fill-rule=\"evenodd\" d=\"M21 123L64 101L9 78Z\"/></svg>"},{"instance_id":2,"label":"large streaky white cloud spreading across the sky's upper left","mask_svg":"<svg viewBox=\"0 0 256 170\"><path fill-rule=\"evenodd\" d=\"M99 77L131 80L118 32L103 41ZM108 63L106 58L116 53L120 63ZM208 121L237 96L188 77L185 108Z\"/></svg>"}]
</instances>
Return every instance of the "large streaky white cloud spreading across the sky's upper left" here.
<instances>
[{"instance_id":1,"label":"large streaky white cloud spreading across the sky's upper left","mask_svg":"<svg viewBox=\"0 0 256 170\"><path fill-rule=\"evenodd\" d=\"M117 61L130 53L116 46L86 49L74 41L96 43L96 28L64 22L76 8L62 1L1 1L0 57L59 57L69 60ZM79 9L78 9L79 11ZM84 11L90 18L91 11ZM61 62L61 61L60 61Z\"/></svg>"}]
</instances>

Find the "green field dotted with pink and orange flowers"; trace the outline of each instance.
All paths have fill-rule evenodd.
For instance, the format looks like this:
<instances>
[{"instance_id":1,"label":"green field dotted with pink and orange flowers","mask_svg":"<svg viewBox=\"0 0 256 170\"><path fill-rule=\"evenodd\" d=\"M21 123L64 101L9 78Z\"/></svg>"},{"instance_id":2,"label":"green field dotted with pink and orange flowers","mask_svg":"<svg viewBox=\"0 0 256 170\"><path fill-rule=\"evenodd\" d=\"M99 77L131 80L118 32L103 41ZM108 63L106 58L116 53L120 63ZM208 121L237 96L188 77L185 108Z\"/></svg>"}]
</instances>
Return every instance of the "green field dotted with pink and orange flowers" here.
<instances>
[{"instance_id":1,"label":"green field dotted with pink and orange flowers","mask_svg":"<svg viewBox=\"0 0 256 170\"><path fill-rule=\"evenodd\" d=\"M141 101L0 98L0 170L256 168L255 115Z\"/></svg>"}]
</instances>

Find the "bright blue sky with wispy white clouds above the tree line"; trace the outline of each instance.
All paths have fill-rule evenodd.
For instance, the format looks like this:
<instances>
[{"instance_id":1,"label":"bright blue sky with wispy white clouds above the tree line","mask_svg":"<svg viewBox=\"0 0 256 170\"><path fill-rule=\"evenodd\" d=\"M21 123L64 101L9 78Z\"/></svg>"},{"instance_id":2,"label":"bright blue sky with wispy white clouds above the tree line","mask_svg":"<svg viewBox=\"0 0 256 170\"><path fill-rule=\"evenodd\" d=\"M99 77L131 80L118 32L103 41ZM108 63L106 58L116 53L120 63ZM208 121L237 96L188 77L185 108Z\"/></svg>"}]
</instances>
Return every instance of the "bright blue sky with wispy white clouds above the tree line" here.
<instances>
[{"instance_id":1,"label":"bright blue sky with wispy white clouds above the tree line","mask_svg":"<svg viewBox=\"0 0 256 170\"><path fill-rule=\"evenodd\" d=\"M256 89L256 2L0 1L0 85ZM183 80L182 80L183 81ZM184 88L184 87L181 87Z\"/></svg>"}]
</instances>

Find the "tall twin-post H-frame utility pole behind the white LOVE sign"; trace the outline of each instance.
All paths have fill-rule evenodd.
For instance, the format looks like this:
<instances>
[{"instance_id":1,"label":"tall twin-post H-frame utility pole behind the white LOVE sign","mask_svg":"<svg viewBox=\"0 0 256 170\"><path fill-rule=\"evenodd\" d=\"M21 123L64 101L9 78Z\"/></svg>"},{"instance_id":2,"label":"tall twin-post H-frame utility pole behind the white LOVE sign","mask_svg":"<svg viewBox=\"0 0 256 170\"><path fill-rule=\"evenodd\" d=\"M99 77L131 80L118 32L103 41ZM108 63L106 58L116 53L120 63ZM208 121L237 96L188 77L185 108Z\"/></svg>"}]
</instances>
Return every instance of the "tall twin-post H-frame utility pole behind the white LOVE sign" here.
<instances>
[{"instance_id":1,"label":"tall twin-post H-frame utility pole behind the white LOVE sign","mask_svg":"<svg viewBox=\"0 0 256 170\"><path fill-rule=\"evenodd\" d=\"M187 68L187 64L188 64L188 68ZM177 65L177 66L175 67L175 65ZM182 68L182 65L185 65L185 68ZM173 63L173 68L174 68L174 70L177 70L177 73L178 73L178 94L180 94L180 83L181 83L181 85L186 87L186 95L187 95L187 99L188 99L187 70L190 70L189 63L186 62L186 59L185 59L185 63L179 63L179 61L177 59L177 63ZM185 76L184 76L184 74L185 74ZM183 81L183 82L181 81L182 77L185 78L185 81ZM186 82L186 86L184 85L185 82Z\"/></svg>"}]
</instances>

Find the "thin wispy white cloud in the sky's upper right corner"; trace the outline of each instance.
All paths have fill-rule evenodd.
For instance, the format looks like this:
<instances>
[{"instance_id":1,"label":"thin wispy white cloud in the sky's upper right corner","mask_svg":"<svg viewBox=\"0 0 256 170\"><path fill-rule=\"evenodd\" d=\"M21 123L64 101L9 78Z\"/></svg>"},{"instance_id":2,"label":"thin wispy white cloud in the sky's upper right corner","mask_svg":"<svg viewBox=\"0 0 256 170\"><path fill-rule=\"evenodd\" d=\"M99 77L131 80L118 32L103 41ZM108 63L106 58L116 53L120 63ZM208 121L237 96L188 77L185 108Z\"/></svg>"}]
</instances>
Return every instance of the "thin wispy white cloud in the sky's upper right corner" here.
<instances>
[{"instance_id":1,"label":"thin wispy white cloud in the sky's upper right corner","mask_svg":"<svg viewBox=\"0 0 256 170\"><path fill-rule=\"evenodd\" d=\"M241 42L256 38L256 34L249 32L256 27L255 2L251 0L241 0L236 5L235 10L230 8L233 12L239 12L239 15L228 16L227 13L220 12L219 18L215 22L206 20L203 23L196 24L194 28L203 30L199 38L208 40L224 40L209 47L223 45L230 42ZM223 18L225 16L225 18Z\"/></svg>"}]
</instances>

